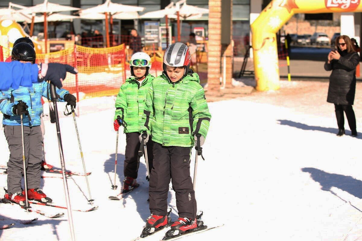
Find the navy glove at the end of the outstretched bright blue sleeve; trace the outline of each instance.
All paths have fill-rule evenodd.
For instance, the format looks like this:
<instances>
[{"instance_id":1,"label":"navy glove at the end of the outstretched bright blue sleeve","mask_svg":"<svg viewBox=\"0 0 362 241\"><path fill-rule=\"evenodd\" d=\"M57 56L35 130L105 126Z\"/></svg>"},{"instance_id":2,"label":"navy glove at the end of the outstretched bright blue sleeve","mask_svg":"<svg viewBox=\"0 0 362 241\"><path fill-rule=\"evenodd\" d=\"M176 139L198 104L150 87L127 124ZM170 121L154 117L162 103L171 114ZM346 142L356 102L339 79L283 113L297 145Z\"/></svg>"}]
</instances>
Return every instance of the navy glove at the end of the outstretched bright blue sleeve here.
<instances>
[{"instance_id":1,"label":"navy glove at the end of the outstretched bright blue sleeve","mask_svg":"<svg viewBox=\"0 0 362 241\"><path fill-rule=\"evenodd\" d=\"M59 63L41 63L39 66L39 76L38 81L48 81L50 80L56 87L59 89L62 88L62 81L66 78L67 72L76 74L78 70L69 64L59 64Z\"/></svg>"}]
</instances>

